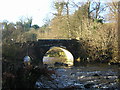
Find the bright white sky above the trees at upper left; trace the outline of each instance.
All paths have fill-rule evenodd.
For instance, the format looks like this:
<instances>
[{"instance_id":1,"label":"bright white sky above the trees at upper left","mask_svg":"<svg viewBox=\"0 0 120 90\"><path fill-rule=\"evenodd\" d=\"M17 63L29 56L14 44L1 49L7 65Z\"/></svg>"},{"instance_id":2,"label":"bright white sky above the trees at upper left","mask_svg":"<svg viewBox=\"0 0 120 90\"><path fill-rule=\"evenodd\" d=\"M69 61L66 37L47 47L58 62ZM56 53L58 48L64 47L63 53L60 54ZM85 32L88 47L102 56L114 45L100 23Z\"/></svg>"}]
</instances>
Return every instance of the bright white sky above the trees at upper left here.
<instances>
[{"instance_id":1,"label":"bright white sky above the trees at upper left","mask_svg":"<svg viewBox=\"0 0 120 90\"><path fill-rule=\"evenodd\" d=\"M0 0L0 22L19 21L22 17L32 17L33 24L43 25L51 13L52 0Z\"/></svg>"}]
</instances>

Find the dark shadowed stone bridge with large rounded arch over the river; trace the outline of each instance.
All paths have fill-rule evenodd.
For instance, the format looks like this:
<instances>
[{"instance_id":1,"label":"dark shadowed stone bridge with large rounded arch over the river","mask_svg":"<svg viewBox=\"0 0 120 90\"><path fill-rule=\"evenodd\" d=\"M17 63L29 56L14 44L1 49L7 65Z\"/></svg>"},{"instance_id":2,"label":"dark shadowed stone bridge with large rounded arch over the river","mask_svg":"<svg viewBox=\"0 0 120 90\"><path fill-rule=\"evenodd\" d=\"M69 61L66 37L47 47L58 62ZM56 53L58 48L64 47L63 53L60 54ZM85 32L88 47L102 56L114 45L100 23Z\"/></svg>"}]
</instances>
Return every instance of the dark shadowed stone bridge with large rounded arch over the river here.
<instances>
[{"instance_id":1,"label":"dark shadowed stone bridge with large rounded arch over the river","mask_svg":"<svg viewBox=\"0 0 120 90\"><path fill-rule=\"evenodd\" d=\"M43 63L43 57L51 47L60 47L68 50L74 57L74 64L79 58L81 61L86 59L85 50L80 41L76 39L39 39L38 41L27 42L22 47L27 47L28 55L33 62L37 63ZM23 56L26 55L24 54Z\"/></svg>"}]
</instances>

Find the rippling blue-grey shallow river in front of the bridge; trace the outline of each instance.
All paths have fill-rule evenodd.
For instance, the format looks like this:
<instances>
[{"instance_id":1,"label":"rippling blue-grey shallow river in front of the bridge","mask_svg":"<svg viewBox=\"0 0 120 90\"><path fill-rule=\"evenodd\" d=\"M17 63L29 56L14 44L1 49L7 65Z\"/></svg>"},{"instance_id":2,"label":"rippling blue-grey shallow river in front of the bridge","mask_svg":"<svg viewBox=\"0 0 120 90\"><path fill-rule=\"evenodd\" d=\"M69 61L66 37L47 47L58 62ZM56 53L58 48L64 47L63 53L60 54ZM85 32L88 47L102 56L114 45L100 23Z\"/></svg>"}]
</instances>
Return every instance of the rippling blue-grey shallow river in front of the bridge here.
<instances>
[{"instance_id":1,"label":"rippling blue-grey shallow river in front of the bridge","mask_svg":"<svg viewBox=\"0 0 120 90\"><path fill-rule=\"evenodd\" d=\"M36 88L116 89L119 87L120 67L114 65L86 65L71 67L49 67L55 70L51 79L41 76Z\"/></svg>"}]
</instances>

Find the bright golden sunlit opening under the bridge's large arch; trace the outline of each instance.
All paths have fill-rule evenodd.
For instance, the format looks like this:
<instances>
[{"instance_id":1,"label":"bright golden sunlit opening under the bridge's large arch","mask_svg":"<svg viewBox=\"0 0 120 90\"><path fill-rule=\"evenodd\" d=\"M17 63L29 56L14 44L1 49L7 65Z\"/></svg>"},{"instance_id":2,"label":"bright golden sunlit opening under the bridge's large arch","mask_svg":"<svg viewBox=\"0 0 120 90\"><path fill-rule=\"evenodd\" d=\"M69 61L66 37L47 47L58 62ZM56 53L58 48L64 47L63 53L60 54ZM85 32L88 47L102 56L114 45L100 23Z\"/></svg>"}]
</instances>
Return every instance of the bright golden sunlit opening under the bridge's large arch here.
<instances>
[{"instance_id":1,"label":"bright golden sunlit opening under the bridge's large arch","mask_svg":"<svg viewBox=\"0 0 120 90\"><path fill-rule=\"evenodd\" d=\"M51 51L60 52L63 57L49 56ZM48 55L48 56L46 56ZM72 53L66 49L64 46L52 46L47 50L45 55L43 56L43 64L54 64L55 62L61 62L68 64L68 66L74 65L74 57Z\"/></svg>"}]
</instances>

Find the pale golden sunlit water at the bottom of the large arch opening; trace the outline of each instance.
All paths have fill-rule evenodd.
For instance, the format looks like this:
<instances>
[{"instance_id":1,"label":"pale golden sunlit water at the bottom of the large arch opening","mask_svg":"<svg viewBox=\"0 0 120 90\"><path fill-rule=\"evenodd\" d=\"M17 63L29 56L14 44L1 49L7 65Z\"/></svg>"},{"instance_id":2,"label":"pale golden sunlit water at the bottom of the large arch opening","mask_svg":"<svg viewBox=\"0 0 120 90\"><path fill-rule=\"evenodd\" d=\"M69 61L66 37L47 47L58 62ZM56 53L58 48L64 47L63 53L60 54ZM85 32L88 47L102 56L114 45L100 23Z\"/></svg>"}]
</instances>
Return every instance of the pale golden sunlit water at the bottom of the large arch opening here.
<instances>
[{"instance_id":1,"label":"pale golden sunlit water at the bottom of the large arch opening","mask_svg":"<svg viewBox=\"0 0 120 90\"><path fill-rule=\"evenodd\" d=\"M73 60L64 57L44 57L43 63L48 65L54 65L55 62L61 62L73 66Z\"/></svg>"}]
</instances>

